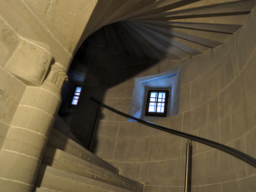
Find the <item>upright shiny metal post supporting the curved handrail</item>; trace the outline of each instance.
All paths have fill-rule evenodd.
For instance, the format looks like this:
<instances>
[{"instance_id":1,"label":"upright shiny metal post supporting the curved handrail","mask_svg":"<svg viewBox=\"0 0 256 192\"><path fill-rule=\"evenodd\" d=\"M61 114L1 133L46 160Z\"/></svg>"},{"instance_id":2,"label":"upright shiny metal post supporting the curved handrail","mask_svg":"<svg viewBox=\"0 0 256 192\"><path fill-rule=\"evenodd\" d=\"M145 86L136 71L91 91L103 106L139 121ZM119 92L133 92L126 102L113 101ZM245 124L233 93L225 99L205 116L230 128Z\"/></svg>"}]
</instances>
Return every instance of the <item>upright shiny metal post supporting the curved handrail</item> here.
<instances>
[{"instance_id":1,"label":"upright shiny metal post supporting the curved handrail","mask_svg":"<svg viewBox=\"0 0 256 192\"><path fill-rule=\"evenodd\" d=\"M191 177L192 177L192 145L188 138L186 148L186 172L185 172L185 190L184 192L191 192Z\"/></svg>"}]
</instances>

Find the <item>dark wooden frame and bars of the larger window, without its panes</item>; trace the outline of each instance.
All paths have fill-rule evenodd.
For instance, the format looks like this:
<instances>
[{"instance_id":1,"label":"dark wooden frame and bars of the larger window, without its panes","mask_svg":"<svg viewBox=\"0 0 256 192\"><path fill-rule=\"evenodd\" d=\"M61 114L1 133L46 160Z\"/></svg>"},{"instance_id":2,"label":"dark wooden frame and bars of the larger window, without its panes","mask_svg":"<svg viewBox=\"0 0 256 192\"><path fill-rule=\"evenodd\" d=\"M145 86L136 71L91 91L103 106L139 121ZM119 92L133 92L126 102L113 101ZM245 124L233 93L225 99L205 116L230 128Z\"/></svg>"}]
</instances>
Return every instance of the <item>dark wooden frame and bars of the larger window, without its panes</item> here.
<instances>
[{"instance_id":1,"label":"dark wooden frame and bars of the larger window, without its panes","mask_svg":"<svg viewBox=\"0 0 256 192\"><path fill-rule=\"evenodd\" d=\"M147 97L146 97L146 104L145 104L145 116L163 116L166 117L167 116L167 109L168 109L168 101L169 101L169 90L166 89L148 89L147 91ZM157 104L158 103L162 103L162 102L158 102L158 95L159 93L166 93L165 95L165 102L164 102L164 111L163 113L160 112L148 112L149 109L149 103L150 103L150 97L151 97L151 93L152 92L157 92Z\"/></svg>"}]
</instances>

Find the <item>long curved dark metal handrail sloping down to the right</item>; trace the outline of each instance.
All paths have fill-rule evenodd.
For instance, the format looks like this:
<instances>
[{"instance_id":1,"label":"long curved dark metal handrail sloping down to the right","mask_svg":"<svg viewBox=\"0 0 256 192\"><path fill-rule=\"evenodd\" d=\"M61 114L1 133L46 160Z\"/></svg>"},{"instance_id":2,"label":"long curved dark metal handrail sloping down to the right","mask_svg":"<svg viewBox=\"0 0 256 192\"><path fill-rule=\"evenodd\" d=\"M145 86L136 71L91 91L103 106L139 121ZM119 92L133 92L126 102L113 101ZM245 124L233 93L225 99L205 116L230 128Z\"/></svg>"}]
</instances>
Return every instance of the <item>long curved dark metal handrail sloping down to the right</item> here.
<instances>
[{"instance_id":1,"label":"long curved dark metal handrail sloping down to the right","mask_svg":"<svg viewBox=\"0 0 256 192\"><path fill-rule=\"evenodd\" d=\"M196 141L198 143L202 143L204 145L208 145L208 146L211 146L211 147L216 148L218 150L224 151L225 153L233 155L234 157L237 157L240 160L243 160L244 162L246 162L246 163L248 163L251 166L256 168L256 159L255 158L253 158L250 155L247 155L247 154L245 154L245 153L243 153L241 151L238 151L238 150L236 150L236 149L234 149L232 147L229 147L227 145L223 145L221 143L218 143L218 142L215 142L215 141L212 141L212 140L207 140L207 139L204 139L202 137L198 137L198 136L191 135L191 134L186 134L186 133L183 133L181 131L176 131L176 130L173 130L173 129L170 129L170 128L166 128L166 127L163 127L163 126L151 123L151 122L147 122L147 121L138 119L136 117L133 117L133 116L130 116L130 115L126 114L126 113L118 111L118 110L116 110L114 108L111 108L108 105L105 105L104 103L94 99L93 97L90 97L90 99L93 100L94 102L99 103L100 105L102 105L102 107L104 107L104 108L106 108L106 109L108 109L110 111L113 111L114 113L117 113L117 114L119 114L121 116L124 116L124 117L129 118L129 119L134 119L137 122L139 122L141 124L144 124L144 125L147 125L149 127L152 127L152 128L155 128L155 129L158 129L158 130L161 130L161 131L165 131L167 133L174 134L174 135L177 135L177 136L180 136L180 137L184 137L184 138Z\"/></svg>"}]
</instances>

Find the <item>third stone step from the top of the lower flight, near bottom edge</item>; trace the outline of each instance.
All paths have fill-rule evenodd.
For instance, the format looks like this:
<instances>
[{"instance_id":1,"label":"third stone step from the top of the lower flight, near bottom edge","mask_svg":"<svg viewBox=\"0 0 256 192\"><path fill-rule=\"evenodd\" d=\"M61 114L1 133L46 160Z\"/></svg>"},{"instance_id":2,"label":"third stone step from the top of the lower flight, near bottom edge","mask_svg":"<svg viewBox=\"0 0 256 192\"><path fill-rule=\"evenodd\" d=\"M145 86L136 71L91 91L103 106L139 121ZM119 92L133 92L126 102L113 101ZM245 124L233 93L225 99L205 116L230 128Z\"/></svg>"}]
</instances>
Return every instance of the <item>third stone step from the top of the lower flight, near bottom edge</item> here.
<instances>
[{"instance_id":1,"label":"third stone step from the top of the lower flight, near bottom edge","mask_svg":"<svg viewBox=\"0 0 256 192\"><path fill-rule=\"evenodd\" d=\"M131 192L128 189L65 172L43 163L35 186L55 192Z\"/></svg>"}]
</instances>

